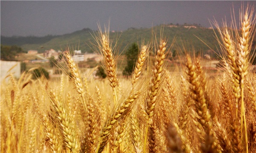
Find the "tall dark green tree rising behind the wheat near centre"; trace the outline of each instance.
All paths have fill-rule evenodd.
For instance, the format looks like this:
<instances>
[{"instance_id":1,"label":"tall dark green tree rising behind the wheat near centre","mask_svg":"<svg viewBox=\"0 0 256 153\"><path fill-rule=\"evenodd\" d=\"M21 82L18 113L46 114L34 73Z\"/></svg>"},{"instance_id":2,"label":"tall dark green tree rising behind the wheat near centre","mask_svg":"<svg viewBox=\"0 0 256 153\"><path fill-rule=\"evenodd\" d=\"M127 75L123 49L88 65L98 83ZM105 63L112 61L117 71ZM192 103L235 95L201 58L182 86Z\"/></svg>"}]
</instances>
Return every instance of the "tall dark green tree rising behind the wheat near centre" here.
<instances>
[{"instance_id":1,"label":"tall dark green tree rising behind the wheat near centre","mask_svg":"<svg viewBox=\"0 0 256 153\"><path fill-rule=\"evenodd\" d=\"M138 54L139 54L139 46L137 45L136 42L134 42L125 52L127 65L125 66L123 75L128 75L128 76L131 75L131 73L133 72L134 66L136 64Z\"/></svg>"}]
</instances>

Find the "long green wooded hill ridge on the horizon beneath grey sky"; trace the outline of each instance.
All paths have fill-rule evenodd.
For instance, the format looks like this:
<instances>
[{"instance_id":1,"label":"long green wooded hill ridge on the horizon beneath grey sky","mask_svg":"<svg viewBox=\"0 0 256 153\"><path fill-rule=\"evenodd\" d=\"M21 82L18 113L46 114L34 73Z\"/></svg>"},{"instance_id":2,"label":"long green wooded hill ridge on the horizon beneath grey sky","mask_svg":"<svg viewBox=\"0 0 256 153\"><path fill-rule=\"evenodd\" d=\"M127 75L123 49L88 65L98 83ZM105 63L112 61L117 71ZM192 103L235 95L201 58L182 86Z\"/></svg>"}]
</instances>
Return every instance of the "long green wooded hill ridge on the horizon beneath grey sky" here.
<instances>
[{"instance_id":1,"label":"long green wooded hill ridge on the horizon beneath grey sky","mask_svg":"<svg viewBox=\"0 0 256 153\"><path fill-rule=\"evenodd\" d=\"M122 52L127 46L133 42L141 44L142 38L145 42L151 42L152 29L157 31L157 37L160 37L160 31L163 26L155 26L153 28L128 28L123 32L110 32L110 38L113 40L113 45L117 41L117 48L119 52ZM92 43L96 43L93 39L94 35L97 35L97 31L93 31L89 28L84 28L79 31L75 31L70 34L52 36L48 35L45 37L4 37L1 36L1 44L3 45L19 45L24 51L38 50L43 52L48 49L64 50L67 45L71 48L79 49L82 52L93 52ZM92 36L93 35L93 36ZM184 45L187 50L192 48L197 51L206 52L209 47L216 49L218 42L215 40L214 31L209 28L202 28L200 26L189 26L189 25L165 25L163 35L168 39L169 44L175 38L174 50L177 48L183 48ZM198 38L201 40L199 40ZM204 42L209 45L204 44ZM218 45L217 45L218 46Z\"/></svg>"}]
</instances>

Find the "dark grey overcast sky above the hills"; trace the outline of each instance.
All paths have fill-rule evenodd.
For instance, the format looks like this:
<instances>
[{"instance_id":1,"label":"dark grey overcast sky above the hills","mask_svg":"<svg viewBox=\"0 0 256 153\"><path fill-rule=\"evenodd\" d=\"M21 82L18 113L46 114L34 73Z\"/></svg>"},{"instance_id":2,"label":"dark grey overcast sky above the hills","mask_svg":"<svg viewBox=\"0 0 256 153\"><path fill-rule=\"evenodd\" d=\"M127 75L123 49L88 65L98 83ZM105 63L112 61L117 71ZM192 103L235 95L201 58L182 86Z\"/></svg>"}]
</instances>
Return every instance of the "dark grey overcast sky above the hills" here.
<instances>
[{"instance_id":1,"label":"dark grey overcast sky above the hills","mask_svg":"<svg viewBox=\"0 0 256 153\"><path fill-rule=\"evenodd\" d=\"M2 36L46 36L83 28L98 30L110 21L111 31L151 28L169 23L197 23L211 27L214 19L239 19L247 1L3 1L0 0ZM250 1L255 5L256 2Z\"/></svg>"}]
</instances>

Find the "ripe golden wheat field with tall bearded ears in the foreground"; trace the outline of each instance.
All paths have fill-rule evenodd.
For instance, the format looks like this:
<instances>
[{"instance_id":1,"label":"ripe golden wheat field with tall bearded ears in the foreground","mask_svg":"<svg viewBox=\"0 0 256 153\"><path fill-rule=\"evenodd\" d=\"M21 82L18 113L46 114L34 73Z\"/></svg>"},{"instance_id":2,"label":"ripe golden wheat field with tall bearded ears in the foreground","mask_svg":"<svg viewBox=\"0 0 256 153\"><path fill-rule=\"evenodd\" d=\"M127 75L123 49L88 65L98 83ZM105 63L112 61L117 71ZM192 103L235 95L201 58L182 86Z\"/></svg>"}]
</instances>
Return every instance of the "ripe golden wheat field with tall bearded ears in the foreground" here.
<instances>
[{"instance_id":1,"label":"ripe golden wheat field with tall bearded ears in the foreground","mask_svg":"<svg viewBox=\"0 0 256 153\"><path fill-rule=\"evenodd\" d=\"M185 48L184 64L168 70L172 42L161 31L140 46L132 77L119 78L106 28L94 46L107 79L81 75L69 49L70 75L59 80L9 74L1 83L1 153L256 153L253 11L240 13L240 29L214 23L224 68L215 76Z\"/></svg>"}]
</instances>

